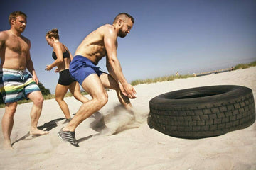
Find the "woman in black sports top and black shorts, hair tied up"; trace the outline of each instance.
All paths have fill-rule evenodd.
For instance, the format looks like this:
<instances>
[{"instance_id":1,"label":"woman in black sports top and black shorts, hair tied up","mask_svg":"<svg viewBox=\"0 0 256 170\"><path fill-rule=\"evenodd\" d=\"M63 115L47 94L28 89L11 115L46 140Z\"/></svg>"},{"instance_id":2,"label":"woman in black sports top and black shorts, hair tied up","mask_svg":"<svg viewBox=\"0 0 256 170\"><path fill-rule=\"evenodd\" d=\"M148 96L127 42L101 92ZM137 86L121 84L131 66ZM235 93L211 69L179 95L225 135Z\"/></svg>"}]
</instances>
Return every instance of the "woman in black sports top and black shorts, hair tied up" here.
<instances>
[{"instance_id":1,"label":"woman in black sports top and black shorts, hair tied up","mask_svg":"<svg viewBox=\"0 0 256 170\"><path fill-rule=\"evenodd\" d=\"M55 100L58 102L61 111L63 111L65 115L65 122L69 122L71 120L70 111L67 103L64 101L64 96L68 89L78 101L85 103L89 100L85 96L82 96L78 81L75 81L70 75L69 67L71 60L73 60L73 56L68 50L68 47L60 42L58 29L49 30L48 33L46 33L46 41L50 47L53 47L52 57L55 60L52 64L46 66L46 70L50 71L56 66L58 68L55 69L55 72L60 73L58 84L55 89Z\"/></svg>"}]
</instances>

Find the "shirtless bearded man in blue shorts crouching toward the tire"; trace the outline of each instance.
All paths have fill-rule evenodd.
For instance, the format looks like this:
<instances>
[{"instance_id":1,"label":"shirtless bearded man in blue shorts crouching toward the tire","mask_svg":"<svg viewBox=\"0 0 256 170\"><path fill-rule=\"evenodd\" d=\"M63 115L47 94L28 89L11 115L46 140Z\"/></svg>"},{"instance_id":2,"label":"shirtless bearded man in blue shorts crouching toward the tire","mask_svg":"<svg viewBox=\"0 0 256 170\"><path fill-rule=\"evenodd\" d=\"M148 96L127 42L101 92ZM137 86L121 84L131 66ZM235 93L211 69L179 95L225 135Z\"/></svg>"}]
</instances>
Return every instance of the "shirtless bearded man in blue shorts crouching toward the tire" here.
<instances>
[{"instance_id":1,"label":"shirtless bearded man in blue shorts crouching toward the tire","mask_svg":"<svg viewBox=\"0 0 256 170\"><path fill-rule=\"evenodd\" d=\"M92 100L83 103L70 123L58 132L64 141L79 147L75 140L75 128L105 106L108 98L105 88L116 90L120 103L124 108L132 111L129 98L136 98L136 91L124 78L117 59L117 37L124 38L133 24L132 16L119 13L112 25L100 26L87 35L78 46L75 57L70 63L70 73L92 96ZM110 74L102 72L100 67L96 66L104 56L106 56L107 70Z\"/></svg>"}]
</instances>

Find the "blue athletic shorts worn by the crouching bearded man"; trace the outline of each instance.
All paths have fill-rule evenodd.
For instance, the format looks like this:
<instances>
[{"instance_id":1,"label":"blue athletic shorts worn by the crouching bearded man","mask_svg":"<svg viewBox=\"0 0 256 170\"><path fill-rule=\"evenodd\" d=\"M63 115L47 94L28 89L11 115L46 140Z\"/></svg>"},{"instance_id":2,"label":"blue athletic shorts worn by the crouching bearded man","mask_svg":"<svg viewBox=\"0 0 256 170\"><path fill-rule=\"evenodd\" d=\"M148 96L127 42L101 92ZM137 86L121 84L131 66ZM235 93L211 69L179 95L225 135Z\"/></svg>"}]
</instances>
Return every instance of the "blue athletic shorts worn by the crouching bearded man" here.
<instances>
[{"instance_id":1,"label":"blue athletic shorts worn by the crouching bearded man","mask_svg":"<svg viewBox=\"0 0 256 170\"><path fill-rule=\"evenodd\" d=\"M103 72L100 67L95 66L91 60L81 55L75 55L72 62L70 62L71 76L82 85L82 82L90 74L97 74L99 77Z\"/></svg>"}]
</instances>

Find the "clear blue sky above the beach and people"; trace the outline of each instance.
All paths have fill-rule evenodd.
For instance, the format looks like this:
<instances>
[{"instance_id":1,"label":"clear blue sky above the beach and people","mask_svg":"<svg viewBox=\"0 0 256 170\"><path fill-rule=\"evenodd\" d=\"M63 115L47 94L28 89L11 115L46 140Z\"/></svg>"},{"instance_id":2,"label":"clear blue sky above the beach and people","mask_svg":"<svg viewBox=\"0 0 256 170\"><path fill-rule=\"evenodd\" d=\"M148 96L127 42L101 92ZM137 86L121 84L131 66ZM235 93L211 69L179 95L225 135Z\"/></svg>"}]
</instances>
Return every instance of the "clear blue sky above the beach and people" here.
<instances>
[{"instance_id":1,"label":"clear blue sky above the beach and people","mask_svg":"<svg viewBox=\"0 0 256 170\"><path fill-rule=\"evenodd\" d=\"M53 62L47 31L58 28L60 42L74 54L87 34L121 12L135 20L131 33L118 38L118 58L129 82L256 60L255 0L1 0L0 31L9 30L13 11L28 16L23 35L31 40L38 78L51 93L58 74L44 70ZM99 66L107 71L105 59Z\"/></svg>"}]
</instances>

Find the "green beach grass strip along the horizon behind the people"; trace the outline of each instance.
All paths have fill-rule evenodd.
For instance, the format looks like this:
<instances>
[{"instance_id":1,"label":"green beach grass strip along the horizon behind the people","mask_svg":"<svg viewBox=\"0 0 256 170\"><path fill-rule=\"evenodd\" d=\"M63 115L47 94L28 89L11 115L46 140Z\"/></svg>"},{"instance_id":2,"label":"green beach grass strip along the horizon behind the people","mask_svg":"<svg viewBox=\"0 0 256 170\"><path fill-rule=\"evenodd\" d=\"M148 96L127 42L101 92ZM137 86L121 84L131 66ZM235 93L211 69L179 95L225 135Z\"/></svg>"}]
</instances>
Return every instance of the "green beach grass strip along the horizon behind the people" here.
<instances>
[{"instance_id":1,"label":"green beach grass strip along the horizon behind the people","mask_svg":"<svg viewBox=\"0 0 256 170\"><path fill-rule=\"evenodd\" d=\"M255 62L250 62L249 64L237 64L234 67L235 69L247 69L249 67L255 67L256 66L256 61ZM185 75L170 75L170 76L164 76L164 77L156 77L153 79L138 79L138 80L134 80L131 82L132 86L136 86L138 84L151 84L151 83L156 83L156 82L161 82L161 81L173 81L174 79L186 79L188 77L194 77L193 74L185 74ZM81 92L82 95L86 95L87 92L86 91L82 91ZM67 94L65 94L65 97L71 97L73 96L70 92L68 92ZM44 95L43 98L45 100L48 99L52 99L55 98L54 94L48 94L48 95ZM31 100L21 100L18 101L18 104L22 104L22 103L28 103L31 102ZM4 104L0 104L0 108L4 108L5 105Z\"/></svg>"}]
</instances>

